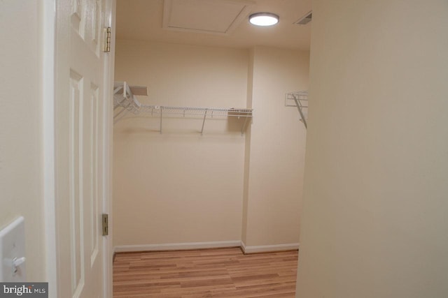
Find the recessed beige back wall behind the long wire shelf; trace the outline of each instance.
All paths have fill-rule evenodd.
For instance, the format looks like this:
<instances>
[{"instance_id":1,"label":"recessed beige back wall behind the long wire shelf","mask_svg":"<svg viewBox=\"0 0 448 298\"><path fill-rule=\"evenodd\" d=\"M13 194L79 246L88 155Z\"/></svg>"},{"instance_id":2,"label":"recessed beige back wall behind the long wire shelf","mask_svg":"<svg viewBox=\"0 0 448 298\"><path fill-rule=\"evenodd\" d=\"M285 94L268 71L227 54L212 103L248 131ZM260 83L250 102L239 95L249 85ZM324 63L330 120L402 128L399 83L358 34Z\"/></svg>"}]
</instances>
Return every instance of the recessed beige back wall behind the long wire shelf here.
<instances>
[{"instance_id":1,"label":"recessed beige back wall behind the long wire shelf","mask_svg":"<svg viewBox=\"0 0 448 298\"><path fill-rule=\"evenodd\" d=\"M118 40L116 80L142 102L246 107L248 52ZM238 121L237 121L238 122ZM235 121L126 117L114 127L114 244L239 241L244 136Z\"/></svg>"}]
</instances>

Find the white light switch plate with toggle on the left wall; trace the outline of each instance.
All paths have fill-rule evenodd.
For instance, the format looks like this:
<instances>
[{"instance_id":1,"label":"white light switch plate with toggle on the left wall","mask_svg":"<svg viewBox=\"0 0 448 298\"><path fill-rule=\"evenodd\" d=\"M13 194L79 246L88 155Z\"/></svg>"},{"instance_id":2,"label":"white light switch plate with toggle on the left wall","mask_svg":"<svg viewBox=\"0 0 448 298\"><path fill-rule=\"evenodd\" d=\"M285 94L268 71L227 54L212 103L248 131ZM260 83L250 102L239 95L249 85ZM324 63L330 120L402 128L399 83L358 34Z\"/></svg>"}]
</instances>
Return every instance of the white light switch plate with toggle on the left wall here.
<instances>
[{"instance_id":1,"label":"white light switch plate with toggle on the left wall","mask_svg":"<svg viewBox=\"0 0 448 298\"><path fill-rule=\"evenodd\" d=\"M23 260L23 262L14 266L14 260ZM0 282L26 281L25 219L23 216L0 230L0 262Z\"/></svg>"}]
</instances>

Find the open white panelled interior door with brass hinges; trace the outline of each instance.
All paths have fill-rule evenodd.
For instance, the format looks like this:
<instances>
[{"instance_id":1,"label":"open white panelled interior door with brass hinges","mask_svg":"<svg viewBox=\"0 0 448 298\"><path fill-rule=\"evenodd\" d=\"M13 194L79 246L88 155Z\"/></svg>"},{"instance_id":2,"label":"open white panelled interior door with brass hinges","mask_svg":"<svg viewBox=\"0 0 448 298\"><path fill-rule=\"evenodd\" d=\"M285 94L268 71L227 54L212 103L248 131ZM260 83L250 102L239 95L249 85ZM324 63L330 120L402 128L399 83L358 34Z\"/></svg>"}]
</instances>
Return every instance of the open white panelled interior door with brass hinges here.
<instances>
[{"instance_id":1,"label":"open white panelled interior door with brass hinges","mask_svg":"<svg viewBox=\"0 0 448 298\"><path fill-rule=\"evenodd\" d=\"M57 297L104 297L105 1L57 0L56 6Z\"/></svg>"}]
</instances>

